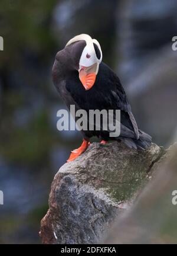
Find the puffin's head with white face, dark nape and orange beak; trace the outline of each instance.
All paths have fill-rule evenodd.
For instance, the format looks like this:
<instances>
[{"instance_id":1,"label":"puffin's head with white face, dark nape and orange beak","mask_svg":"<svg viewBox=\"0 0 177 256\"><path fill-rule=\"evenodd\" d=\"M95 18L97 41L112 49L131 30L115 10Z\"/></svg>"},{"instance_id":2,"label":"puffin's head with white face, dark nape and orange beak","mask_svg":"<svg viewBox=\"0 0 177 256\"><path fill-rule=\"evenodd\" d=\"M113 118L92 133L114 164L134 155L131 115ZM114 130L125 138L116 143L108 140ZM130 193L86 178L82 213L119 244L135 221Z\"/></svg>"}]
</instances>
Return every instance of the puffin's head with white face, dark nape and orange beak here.
<instances>
[{"instance_id":1,"label":"puffin's head with white face, dark nape and orange beak","mask_svg":"<svg viewBox=\"0 0 177 256\"><path fill-rule=\"evenodd\" d=\"M102 60L101 47L96 39L87 34L75 36L57 55L57 60L65 69L78 71L79 79L86 90L93 87Z\"/></svg>"}]
</instances>

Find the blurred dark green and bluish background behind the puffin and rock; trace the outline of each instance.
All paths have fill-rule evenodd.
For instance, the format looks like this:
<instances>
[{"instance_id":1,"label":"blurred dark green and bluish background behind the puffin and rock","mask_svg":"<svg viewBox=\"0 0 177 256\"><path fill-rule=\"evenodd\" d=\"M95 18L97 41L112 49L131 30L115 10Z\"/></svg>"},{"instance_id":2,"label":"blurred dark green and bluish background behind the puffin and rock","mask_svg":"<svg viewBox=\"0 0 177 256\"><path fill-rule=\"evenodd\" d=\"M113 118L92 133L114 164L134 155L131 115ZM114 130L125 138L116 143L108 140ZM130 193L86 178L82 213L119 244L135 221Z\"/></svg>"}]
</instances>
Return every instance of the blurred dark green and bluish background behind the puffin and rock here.
<instances>
[{"instance_id":1,"label":"blurred dark green and bluish background behind the puffin and rock","mask_svg":"<svg viewBox=\"0 0 177 256\"><path fill-rule=\"evenodd\" d=\"M79 132L57 131L65 108L51 81L55 53L73 36L99 40L140 129L159 145L177 140L175 0L1 0L0 243L40 243L54 174Z\"/></svg>"}]
</instances>

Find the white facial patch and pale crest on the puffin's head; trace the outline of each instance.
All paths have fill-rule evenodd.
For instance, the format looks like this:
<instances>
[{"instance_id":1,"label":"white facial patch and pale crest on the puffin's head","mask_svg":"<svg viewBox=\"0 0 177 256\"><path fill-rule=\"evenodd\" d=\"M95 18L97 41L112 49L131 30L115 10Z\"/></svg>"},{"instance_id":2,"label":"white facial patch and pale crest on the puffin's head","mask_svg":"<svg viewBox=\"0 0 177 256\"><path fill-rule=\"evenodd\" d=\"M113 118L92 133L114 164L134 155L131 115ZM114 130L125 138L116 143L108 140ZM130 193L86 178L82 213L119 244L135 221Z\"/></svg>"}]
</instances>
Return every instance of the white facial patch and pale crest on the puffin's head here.
<instances>
[{"instance_id":1,"label":"white facial patch and pale crest on the puffin's head","mask_svg":"<svg viewBox=\"0 0 177 256\"><path fill-rule=\"evenodd\" d=\"M96 68L96 74L97 74L99 72L99 64L101 63L103 55L102 55L100 44L96 39L92 39L87 34L80 34L76 37L73 37L73 39L71 39L70 41L68 41L66 46L70 45L71 43L74 43L76 41L81 41L81 40L86 41L86 47L84 47L84 50L81 54L78 71L80 71L82 66L89 67L89 66L92 66L95 63L97 63L97 68ZM101 55L100 59L98 59L97 56L96 56L96 52L94 50L93 43L95 43L97 45L97 47L99 48L99 50L100 50L100 55Z\"/></svg>"}]
</instances>

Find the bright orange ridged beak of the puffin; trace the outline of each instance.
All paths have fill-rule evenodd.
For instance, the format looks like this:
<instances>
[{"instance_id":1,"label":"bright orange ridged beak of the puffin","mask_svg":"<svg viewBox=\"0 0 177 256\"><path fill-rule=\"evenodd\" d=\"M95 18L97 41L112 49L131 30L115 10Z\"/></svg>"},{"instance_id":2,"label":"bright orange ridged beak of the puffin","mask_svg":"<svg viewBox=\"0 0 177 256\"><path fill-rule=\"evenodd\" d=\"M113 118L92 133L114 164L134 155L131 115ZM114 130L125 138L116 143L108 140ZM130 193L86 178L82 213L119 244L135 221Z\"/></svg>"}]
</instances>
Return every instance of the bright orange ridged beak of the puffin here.
<instances>
[{"instance_id":1,"label":"bright orange ridged beak of the puffin","mask_svg":"<svg viewBox=\"0 0 177 256\"><path fill-rule=\"evenodd\" d=\"M83 84L84 88L86 90L89 90L91 89L91 87L93 87L94 82L96 81L96 73L89 72L88 68L82 66L79 71L79 79Z\"/></svg>"}]
</instances>

